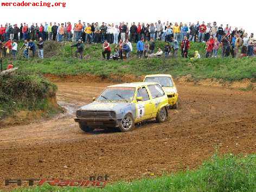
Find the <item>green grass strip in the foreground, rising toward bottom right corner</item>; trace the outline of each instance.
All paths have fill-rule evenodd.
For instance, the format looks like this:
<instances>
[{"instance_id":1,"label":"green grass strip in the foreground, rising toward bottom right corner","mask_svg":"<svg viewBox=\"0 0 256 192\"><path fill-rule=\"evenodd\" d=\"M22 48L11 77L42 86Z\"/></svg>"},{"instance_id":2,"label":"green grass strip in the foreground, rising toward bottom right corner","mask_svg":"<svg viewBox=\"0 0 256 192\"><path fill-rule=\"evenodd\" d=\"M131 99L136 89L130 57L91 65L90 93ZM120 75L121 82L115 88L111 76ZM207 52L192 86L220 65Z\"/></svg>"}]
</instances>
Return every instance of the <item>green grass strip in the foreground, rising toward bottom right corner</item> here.
<instances>
[{"instance_id":1,"label":"green grass strip in the foreground, rising toward bottom right corner","mask_svg":"<svg viewBox=\"0 0 256 192\"><path fill-rule=\"evenodd\" d=\"M213 156L197 170L187 170L156 178L107 184L103 189L42 187L14 191L255 191L256 155Z\"/></svg>"}]
</instances>

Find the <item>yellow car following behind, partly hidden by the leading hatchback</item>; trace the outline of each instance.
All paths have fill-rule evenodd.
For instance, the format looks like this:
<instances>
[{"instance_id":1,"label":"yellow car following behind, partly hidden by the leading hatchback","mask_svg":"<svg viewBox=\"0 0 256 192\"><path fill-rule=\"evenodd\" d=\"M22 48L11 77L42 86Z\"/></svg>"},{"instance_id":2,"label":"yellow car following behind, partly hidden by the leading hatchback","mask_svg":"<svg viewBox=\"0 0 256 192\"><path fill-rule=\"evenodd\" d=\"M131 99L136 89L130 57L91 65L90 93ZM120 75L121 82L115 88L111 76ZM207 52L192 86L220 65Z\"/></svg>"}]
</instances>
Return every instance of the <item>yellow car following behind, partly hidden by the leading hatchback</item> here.
<instances>
[{"instance_id":1,"label":"yellow car following behind, partly hidden by the leading hatchback","mask_svg":"<svg viewBox=\"0 0 256 192\"><path fill-rule=\"evenodd\" d=\"M145 82L157 82L165 93L167 93L169 105L172 108L178 108L178 92L174 80L168 74L146 75Z\"/></svg>"}]
</instances>

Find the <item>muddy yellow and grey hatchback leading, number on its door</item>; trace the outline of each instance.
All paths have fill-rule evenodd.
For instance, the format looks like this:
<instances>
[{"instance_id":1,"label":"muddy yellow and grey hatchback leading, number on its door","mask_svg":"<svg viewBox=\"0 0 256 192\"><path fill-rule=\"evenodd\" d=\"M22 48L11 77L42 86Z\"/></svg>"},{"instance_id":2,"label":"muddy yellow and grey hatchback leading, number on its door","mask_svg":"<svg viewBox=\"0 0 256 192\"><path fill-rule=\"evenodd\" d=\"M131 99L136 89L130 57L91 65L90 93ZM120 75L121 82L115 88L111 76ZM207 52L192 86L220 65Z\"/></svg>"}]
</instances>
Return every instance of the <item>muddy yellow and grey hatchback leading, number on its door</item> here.
<instances>
[{"instance_id":1,"label":"muddy yellow and grey hatchback leading, number on its door","mask_svg":"<svg viewBox=\"0 0 256 192\"><path fill-rule=\"evenodd\" d=\"M126 132L140 121L156 118L163 122L168 118L168 97L156 82L108 86L93 100L76 111L75 121L83 131L118 127Z\"/></svg>"}]
</instances>

